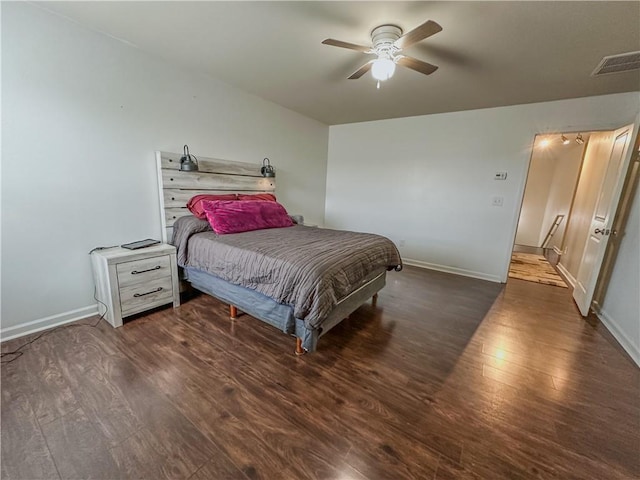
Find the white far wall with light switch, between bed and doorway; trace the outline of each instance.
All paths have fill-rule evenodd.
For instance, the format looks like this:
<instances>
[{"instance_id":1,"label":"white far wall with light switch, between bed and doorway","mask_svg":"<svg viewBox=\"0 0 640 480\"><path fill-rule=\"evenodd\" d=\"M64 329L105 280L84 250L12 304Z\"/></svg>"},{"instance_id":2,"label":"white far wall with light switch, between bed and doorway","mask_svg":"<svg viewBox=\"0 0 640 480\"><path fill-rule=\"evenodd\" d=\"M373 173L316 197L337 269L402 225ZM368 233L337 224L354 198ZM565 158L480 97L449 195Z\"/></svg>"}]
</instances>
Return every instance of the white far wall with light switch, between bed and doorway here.
<instances>
[{"instance_id":1,"label":"white far wall with light switch, between bed and doorway","mask_svg":"<svg viewBox=\"0 0 640 480\"><path fill-rule=\"evenodd\" d=\"M634 92L332 126L325 224L404 241L407 263L504 281L534 136L611 130L639 110Z\"/></svg>"}]
</instances>

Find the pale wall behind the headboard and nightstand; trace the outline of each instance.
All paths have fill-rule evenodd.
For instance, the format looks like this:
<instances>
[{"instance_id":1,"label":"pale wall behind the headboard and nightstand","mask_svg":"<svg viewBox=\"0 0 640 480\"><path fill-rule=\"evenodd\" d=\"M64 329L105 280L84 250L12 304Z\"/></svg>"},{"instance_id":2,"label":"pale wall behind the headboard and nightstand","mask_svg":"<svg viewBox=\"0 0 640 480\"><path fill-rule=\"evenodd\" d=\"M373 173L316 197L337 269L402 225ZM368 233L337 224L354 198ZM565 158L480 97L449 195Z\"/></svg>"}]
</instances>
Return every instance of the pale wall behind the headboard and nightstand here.
<instances>
[{"instance_id":1,"label":"pale wall behind the headboard and nightstand","mask_svg":"<svg viewBox=\"0 0 640 480\"><path fill-rule=\"evenodd\" d=\"M95 311L87 252L160 237L154 151L261 163L324 221L328 127L2 2L2 334Z\"/></svg>"}]
</instances>

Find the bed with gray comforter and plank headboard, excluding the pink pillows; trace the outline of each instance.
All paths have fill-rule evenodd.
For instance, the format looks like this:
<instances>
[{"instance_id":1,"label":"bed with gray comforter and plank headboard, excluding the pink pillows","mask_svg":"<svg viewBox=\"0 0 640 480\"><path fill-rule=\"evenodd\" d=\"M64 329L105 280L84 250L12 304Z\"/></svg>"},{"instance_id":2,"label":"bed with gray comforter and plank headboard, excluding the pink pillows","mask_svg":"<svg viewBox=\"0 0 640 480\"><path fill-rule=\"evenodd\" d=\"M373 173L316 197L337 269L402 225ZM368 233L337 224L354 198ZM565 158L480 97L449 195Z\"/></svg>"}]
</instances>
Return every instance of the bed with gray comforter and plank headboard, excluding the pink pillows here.
<instances>
[{"instance_id":1,"label":"bed with gray comforter and plank headboard, excluding the pink pillows","mask_svg":"<svg viewBox=\"0 0 640 480\"><path fill-rule=\"evenodd\" d=\"M275 193L261 165L199 158L199 171L179 170L180 154L156 153L163 240L178 249L183 278L195 289L296 338L296 354L368 299L375 305L386 272L402 261L387 238L293 225L229 235L185 207L196 194Z\"/></svg>"}]
</instances>

